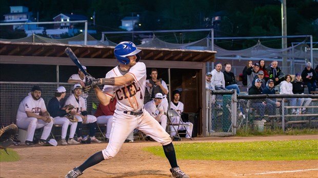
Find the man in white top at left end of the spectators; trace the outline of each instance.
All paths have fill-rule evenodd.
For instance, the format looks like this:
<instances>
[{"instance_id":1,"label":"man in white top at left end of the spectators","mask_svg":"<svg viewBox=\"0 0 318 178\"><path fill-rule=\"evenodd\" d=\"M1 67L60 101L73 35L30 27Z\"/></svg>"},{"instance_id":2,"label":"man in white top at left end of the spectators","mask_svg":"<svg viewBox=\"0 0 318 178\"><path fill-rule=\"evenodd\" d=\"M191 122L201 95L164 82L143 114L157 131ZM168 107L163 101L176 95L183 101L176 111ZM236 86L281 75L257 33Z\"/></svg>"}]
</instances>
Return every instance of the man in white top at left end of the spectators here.
<instances>
[{"instance_id":1,"label":"man in white top at left end of the spectators","mask_svg":"<svg viewBox=\"0 0 318 178\"><path fill-rule=\"evenodd\" d=\"M214 90L222 90L222 91L227 91L225 88L225 80L224 80L224 75L222 70L222 64L221 63L216 63L215 69L212 71L212 78L211 82L214 86Z\"/></svg>"}]
</instances>

